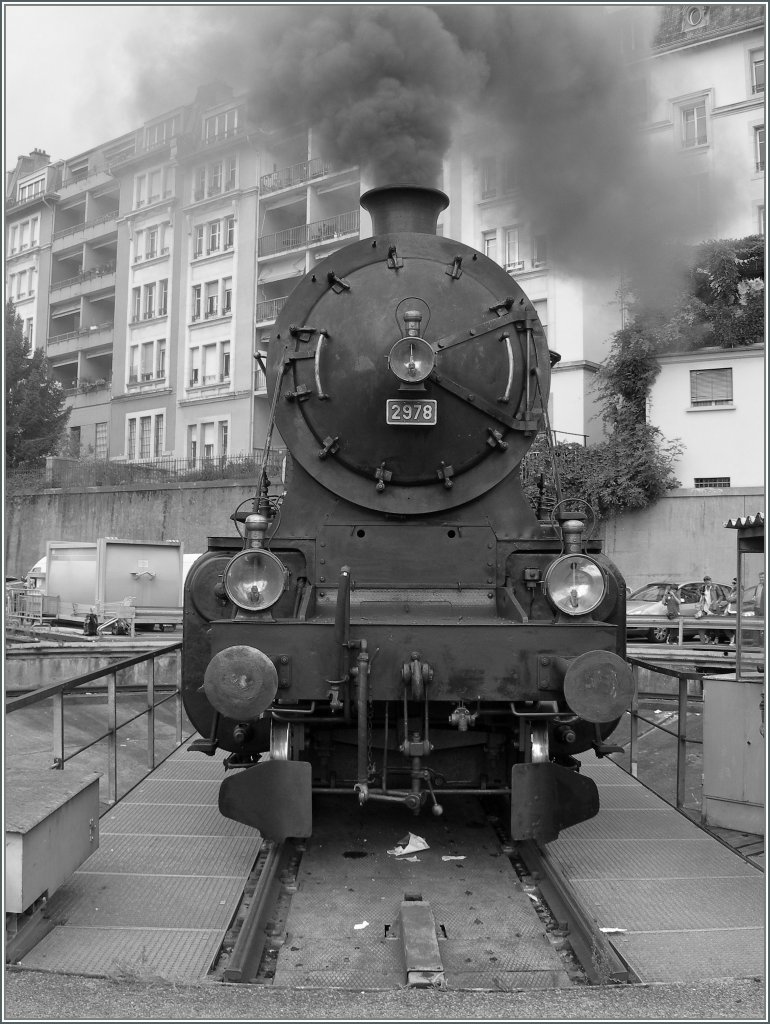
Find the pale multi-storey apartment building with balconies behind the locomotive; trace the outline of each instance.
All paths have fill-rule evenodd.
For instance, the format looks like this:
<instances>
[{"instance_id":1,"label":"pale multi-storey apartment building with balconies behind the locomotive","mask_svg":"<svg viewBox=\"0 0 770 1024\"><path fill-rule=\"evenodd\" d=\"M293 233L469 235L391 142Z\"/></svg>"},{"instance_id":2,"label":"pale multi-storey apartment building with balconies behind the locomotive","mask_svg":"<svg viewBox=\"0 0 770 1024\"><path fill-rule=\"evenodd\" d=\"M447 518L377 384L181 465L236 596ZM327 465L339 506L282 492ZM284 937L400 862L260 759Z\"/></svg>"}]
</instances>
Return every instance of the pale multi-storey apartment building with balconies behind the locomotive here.
<instances>
[{"instance_id":1,"label":"pale multi-storey apartment building with balconies behind the locomotive","mask_svg":"<svg viewBox=\"0 0 770 1024\"><path fill-rule=\"evenodd\" d=\"M683 201L705 218L699 237L764 231L764 8L662 8L639 74L635 116L691 167ZM269 400L255 356L316 260L369 232L358 169L325 161L312 129L250 124L245 98L201 87L135 131L55 163L35 151L6 176L6 294L67 389L73 452L260 450ZM592 380L622 325L617 282L586 289L555 270L511 158L483 132L453 148L439 231L516 276L561 354L552 428L598 439Z\"/></svg>"}]
</instances>

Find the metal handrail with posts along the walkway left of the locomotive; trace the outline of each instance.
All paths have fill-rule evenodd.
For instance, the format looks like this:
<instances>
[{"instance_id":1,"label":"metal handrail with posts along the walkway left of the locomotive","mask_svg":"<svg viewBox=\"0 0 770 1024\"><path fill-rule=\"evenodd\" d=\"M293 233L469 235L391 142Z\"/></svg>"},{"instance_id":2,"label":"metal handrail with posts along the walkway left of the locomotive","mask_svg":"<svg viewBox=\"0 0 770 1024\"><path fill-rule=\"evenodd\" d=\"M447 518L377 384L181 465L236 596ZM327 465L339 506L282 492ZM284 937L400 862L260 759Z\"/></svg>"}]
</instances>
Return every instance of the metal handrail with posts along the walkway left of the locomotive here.
<instances>
[{"instance_id":1,"label":"metal handrail with posts along the walkway left of the locomotive","mask_svg":"<svg viewBox=\"0 0 770 1024\"><path fill-rule=\"evenodd\" d=\"M145 778L146 775L152 772L156 765L156 725L157 725L157 715L156 712L159 708L169 701L174 701L174 727L175 727L175 746L181 746L181 744L193 735L194 730L188 729L186 735L184 733L184 709L181 699L181 666L180 666L180 651L181 643L169 644L166 647L160 647L156 650L147 651L144 654L138 654L135 657L124 658L123 660L117 662L114 665L106 666L103 669L96 669L93 672L86 672L83 675L75 676L71 679L65 679L58 683L51 683L48 686L43 686L40 689L33 690L30 693L24 693L16 697L11 697L5 702L5 713L6 716L13 714L14 712L22 711L25 708L33 708L35 706L43 703L45 700L53 701L53 736L52 736L52 759L53 763L51 768L56 770L62 770L65 764L71 761L73 758L78 757L84 752L95 746L96 743L102 740L108 741L108 805L112 806L118 799L118 751L120 744L118 742L118 735L122 729L138 721L139 719L146 716L147 719L147 758L146 758L146 771L141 776ZM168 684L158 684L156 681L156 671L159 669L158 660L161 657L167 657L174 654L174 662L176 663L174 671L175 683L171 692L167 691L170 687ZM118 676L121 673L127 673L129 670L133 670L135 666L148 665L149 671L147 672L146 680L146 707L141 711L131 713L126 718L120 720L118 719L118 702L119 696L132 695L135 696L136 684L130 681L124 680L123 687L118 685ZM132 673L133 674L133 673ZM108 725L105 731L100 733L95 738L89 738L87 742L83 743L81 746L71 750L69 753L66 750L66 730L65 730L65 698L68 695L77 693L82 696L84 691L81 689L87 683L99 683L104 680L106 683L106 719ZM139 779L141 781L141 779ZM120 796L123 797L126 793L130 792L137 785L138 782L134 782L132 785L122 793Z\"/></svg>"}]
</instances>

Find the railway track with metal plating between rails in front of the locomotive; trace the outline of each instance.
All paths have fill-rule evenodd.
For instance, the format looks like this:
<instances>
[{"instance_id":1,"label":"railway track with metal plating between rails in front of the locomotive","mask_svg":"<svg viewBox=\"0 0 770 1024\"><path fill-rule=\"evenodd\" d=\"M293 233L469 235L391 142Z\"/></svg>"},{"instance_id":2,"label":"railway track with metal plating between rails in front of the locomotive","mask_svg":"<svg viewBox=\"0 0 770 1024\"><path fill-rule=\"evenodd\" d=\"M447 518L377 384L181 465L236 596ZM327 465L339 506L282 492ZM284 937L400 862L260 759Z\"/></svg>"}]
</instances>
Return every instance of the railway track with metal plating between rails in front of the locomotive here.
<instances>
[{"instance_id":1,"label":"railway track with metal plating between rails in front of the locomotive","mask_svg":"<svg viewBox=\"0 0 770 1024\"><path fill-rule=\"evenodd\" d=\"M635 980L491 800L442 817L317 801L313 837L265 842L212 976L276 987L519 990ZM427 848L395 856L408 835Z\"/></svg>"}]
</instances>

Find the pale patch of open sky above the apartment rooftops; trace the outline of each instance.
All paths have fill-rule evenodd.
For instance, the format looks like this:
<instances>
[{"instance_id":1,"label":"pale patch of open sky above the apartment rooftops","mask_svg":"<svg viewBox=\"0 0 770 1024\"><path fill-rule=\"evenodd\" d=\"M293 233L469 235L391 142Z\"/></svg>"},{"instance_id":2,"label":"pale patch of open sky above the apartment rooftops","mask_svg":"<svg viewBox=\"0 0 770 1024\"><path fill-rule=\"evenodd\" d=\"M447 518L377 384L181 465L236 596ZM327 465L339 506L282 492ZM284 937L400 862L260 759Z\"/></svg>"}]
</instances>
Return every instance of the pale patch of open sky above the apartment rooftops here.
<instances>
[{"instance_id":1,"label":"pale patch of open sky above the apartment rooftops","mask_svg":"<svg viewBox=\"0 0 770 1024\"><path fill-rule=\"evenodd\" d=\"M5 170L31 150L77 156L168 109L139 110L131 70L196 5L4 3Z\"/></svg>"}]
</instances>

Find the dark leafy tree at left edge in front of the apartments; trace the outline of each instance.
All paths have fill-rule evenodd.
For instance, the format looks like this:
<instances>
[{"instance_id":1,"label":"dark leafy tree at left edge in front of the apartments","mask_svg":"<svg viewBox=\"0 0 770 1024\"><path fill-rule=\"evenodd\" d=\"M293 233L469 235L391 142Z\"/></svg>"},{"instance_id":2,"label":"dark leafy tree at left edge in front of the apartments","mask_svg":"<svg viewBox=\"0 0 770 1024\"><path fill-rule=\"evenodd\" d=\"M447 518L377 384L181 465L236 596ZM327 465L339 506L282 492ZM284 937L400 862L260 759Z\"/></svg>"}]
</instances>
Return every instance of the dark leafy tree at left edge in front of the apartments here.
<instances>
[{"instance_id":1,"label":"dark leafy tree at left edge in front of the apartments","mask_svg":"<svg viewBox=\"0 0 770 1024\"><path fill-rule=\"evenodd\" d=\"M22 319L5 303L5 457L20 466L56 452L70 419L65 391L42 348L32 352Z\"/></svg>"}]
</instances>

